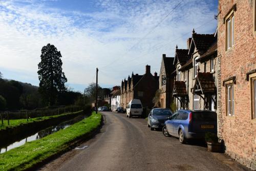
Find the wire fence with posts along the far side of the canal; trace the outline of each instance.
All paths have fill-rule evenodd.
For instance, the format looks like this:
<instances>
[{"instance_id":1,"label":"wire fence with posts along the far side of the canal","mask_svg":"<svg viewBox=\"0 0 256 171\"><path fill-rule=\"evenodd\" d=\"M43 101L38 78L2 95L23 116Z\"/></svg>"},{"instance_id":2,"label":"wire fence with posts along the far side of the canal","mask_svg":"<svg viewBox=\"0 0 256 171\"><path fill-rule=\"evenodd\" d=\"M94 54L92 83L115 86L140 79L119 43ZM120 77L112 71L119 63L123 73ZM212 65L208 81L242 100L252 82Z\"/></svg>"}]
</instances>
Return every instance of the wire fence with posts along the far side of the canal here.
<instances>
[{"instance_id":1,"label":"wire fence with posts along the far side of the canal","mask_svg":"<svg viewBox=\"0 0 256 171\"><path fill-rule=\"evenodd\" d=\"M69 106L48 106L47 108L37 108L35 110L22 110L22 111L4 111L0 112L0 119L1 124L4 124L4 120L9 121L13 119L29 119L31 118L37 118L37 117L44 117L44 116L54 116L54 115L60 115L70 112L77 112L81 111L84 108L81 108L80 106L76 105L69 105Z\"/></svg>"}]
</instances>

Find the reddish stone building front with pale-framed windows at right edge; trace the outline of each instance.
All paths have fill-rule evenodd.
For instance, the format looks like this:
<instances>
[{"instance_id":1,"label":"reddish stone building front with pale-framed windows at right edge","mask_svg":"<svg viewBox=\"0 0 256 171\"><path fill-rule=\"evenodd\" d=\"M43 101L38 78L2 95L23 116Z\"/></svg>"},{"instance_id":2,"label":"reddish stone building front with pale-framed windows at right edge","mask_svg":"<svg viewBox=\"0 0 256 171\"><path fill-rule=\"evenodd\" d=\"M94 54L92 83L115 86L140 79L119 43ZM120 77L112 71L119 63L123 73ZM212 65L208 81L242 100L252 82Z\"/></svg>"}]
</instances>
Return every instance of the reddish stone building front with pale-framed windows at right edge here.
<instances>
[{"instance_id":1,"label":"reddish stone building front with pale-framed windows at right edge","mask_svg":"<svg viewBox=\"0 0 256 171\"><path fill-rule=\"evenodd\" d=\"M256 169L255 0L219 1L218 136L225 152Z\"/></svg>"}]
</instances>

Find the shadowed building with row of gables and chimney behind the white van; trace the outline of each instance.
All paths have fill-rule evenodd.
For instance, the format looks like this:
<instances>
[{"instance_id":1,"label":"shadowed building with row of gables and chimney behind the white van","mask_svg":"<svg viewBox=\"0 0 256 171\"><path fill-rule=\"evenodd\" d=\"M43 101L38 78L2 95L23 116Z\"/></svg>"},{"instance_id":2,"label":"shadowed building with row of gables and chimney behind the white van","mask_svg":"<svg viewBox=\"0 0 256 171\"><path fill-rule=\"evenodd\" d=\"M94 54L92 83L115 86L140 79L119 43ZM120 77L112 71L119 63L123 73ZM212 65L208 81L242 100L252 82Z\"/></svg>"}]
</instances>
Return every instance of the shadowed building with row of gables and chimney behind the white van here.
<instances>
[{"instance_id":1,"label":"shadowed building with row of gables and chimney behind the white van","mask_svg":"<svg viewBox=\"0 0 256 171\"><path fill-rule=\"evenodd\" d=\"M159 76L151 74L150 66L146 66L145 74L133 74L121 82L120 106L126 108L132 99L140 99L142 106L153 107L153 98L159 88Z\"/></svg>"}]
</instances>

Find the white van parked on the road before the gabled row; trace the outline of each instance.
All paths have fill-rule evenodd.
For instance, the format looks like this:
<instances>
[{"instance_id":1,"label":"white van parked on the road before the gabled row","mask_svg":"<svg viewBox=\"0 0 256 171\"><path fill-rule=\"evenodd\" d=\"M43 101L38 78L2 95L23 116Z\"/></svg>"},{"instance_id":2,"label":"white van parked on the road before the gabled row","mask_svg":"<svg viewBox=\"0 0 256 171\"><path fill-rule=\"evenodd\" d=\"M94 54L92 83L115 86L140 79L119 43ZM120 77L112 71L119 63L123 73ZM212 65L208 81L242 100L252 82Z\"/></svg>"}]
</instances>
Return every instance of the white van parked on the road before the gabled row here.
<instances>
[{"instance_id":1,"label":"white van parked on the road before the gabled row","mask_svg":"<svg viewBox=\"0 0 256 171\"><path fill-rule=\"evenodd\" d=\"M131 100L126 108L126 117L131 118L132 116L142 116L142 104L139 99Z\"/></svg>"}]
</instances>

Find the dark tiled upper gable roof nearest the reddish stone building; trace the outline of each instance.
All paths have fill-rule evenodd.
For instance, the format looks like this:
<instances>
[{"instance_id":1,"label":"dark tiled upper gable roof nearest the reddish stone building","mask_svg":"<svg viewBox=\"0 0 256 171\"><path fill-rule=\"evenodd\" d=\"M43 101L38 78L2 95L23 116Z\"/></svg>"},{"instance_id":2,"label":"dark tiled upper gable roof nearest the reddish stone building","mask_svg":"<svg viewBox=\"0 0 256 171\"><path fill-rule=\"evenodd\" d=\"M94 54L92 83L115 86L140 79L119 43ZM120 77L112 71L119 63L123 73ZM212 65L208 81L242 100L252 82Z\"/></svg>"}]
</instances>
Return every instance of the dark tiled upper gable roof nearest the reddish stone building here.
<instances>
[{"instance_id":1,"label":"dark tiled upper gable roof nearest the reddish stone building","mask_svg":"<svg viewBox=\"0 0 256 171\"><path fill-rule=\"evenodd\" d=\"M195 42L197 50L207 50L212 42L215 41L216 37L214 34L193 34L193 40Z\"/></svg>"}]
</instances>

